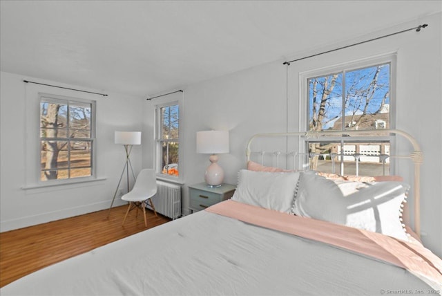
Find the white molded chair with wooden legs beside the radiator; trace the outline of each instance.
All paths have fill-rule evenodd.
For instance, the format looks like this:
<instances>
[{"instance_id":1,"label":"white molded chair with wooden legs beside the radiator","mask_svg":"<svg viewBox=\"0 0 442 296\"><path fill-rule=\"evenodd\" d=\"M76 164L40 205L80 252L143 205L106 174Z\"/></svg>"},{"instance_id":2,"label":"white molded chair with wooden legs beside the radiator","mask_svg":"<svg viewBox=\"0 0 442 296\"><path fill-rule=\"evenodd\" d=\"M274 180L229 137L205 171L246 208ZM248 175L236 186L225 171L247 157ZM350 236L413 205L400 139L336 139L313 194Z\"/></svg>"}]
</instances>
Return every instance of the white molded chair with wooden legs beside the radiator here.
<instances>
[{"instance_id":1,"label":"white molded chair with wooden legs beside the radiator","mask_svg":"<svg viewBox=\"0 0 442 296\"><path fill-rule=\"evenodd\" d=\"M146 220L146 205L147 201L151 203L151 207L155 216L157 216L157 212L155 211L155 207L153 206L151 197L157 193L157 178L155 176L154 169L142 169L140 174L138 174L137 179L135 181L135 185L131 192L128 192L122 196L123 201L128 201L129 205L126 211L126 215L124 216L123 225L126 221L127 214L135 207L143 211L144 214L144 225L147 227ZM138 211L137 211L138 217Z\"/></svg>"}]
</instances>

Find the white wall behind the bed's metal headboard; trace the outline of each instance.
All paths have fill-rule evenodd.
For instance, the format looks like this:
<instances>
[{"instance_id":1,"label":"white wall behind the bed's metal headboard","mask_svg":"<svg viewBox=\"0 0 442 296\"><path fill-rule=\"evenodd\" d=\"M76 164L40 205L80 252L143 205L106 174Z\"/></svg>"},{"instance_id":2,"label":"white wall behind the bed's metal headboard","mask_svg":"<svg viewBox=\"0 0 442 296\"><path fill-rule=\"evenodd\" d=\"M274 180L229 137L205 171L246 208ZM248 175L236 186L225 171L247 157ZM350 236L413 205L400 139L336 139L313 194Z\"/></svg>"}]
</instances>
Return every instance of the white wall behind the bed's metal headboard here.
<instances>
[{"instance_id":1,"label":"white wall behind the bed's metal headboard","mask_svg":"<svg viewBox=\"0 0 442 296\"><path fill-rule=\"evenodd\" d=\"M397 114L396 128L405 129L419 140L425 154L421 183L421 227L423 242L437 255L442 255L442 198L441 198L441 14L420 19L420 23L401 24L398 29L411 28L427 22L421 33L409 32L363 46L340 50L329 55L289 66L284 60L249 68L238 73L186 86L184 90L184 118L180 130L180 149L184 149L183 212L188 211L187 186L204 181L208 156L195 153L196 132L206 129L229 129L231 151L220 155L220 165L226 174L225 182L236 184L238 170L244 168L244 150L254 133L298 131L299 89L298 75L302 71L340 64L373 55L397 53ZM395 28L376 32L367 38L391 33ZM365 37L363 37L365 38ZM362 40L356 40L362 41ZM351 41L349 41L351 43ZM348 43L348 44L349 44ZM347 44L336 44L332 48ZM331 49L331 48L327 48ZM326 49L326 50L327 50ZM320 50L318 50L320 51ZM316 53L316 52L315 52ZM306 53L309 55L311 53ZM287 85L287 73L289 84ZM287 104L287 87L289 100ZM144 128L153 127L153 108L161 98L144 102ZM289 111L287 119L286 111ZM153 133L146 145L153 145ZM144 165L152 165L151 154L144 150ZM436 165L435 165L436 164ZM408 172L399 172L408 174Z\"/></svg>"}]
</instances>

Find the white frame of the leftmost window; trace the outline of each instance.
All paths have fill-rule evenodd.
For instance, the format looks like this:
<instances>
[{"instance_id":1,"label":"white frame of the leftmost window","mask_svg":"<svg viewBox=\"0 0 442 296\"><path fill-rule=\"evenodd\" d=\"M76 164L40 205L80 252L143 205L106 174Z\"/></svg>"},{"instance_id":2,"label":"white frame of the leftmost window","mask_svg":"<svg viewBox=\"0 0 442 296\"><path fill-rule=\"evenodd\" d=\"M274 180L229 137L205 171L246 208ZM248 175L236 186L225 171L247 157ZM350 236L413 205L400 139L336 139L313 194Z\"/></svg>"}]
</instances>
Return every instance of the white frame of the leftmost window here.
<instances>
[{"instance_id":1,"label":"white frame of the leftmost window","mask_svg":"<svg viewBox=\"0 0 442 296\"><path fill-rule=\"evenodd\" d=\"M64 95L54 95L49 93L39 93L39 108L38 108L38 144L37 144L37 184L41 186L52 186L52 185L64 185L64 184L75 184L75 183L81 183L85 181L95 181L97 179L97 161L96 161L96 109L97 109L97 103L95 100L86 100L81 98L74 98L74 97L68 97ZM80 177L73 177L73 178L62 178L62 179L52 179L52 180L41 180L41 103L46 101L53 101L53 102L63 102L66 103L66 106L69 107L70 104L90 104L90 137L89 138L69 138L68 135L66 137L57 137L56 139L64 139L66 138L68 142L75 140L86 140L87 142L90 142L91 146L91 152L90 152L90 176L80 176ZM72 167L67 167L72 169Z\"/></svg>"}]
</instances>

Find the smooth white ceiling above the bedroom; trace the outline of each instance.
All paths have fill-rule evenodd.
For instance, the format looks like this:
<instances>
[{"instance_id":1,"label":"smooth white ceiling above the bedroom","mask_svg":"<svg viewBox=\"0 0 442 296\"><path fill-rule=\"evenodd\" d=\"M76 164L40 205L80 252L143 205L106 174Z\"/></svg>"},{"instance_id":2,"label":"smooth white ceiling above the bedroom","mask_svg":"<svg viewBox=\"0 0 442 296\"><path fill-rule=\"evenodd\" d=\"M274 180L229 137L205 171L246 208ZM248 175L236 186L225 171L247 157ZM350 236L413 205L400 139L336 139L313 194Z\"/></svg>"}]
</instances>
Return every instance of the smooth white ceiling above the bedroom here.
<instances>
[{"instance_id":1,"label":"smooth white ceiling above the bedroom","mask_svg":"<svg viewBox=\"0 0 442 296\"><path fill-rule=\"evenodd\" d=\"M148 97L442 11L442 1L4 1L1 71Z\"/></svg>"}]
</instances>

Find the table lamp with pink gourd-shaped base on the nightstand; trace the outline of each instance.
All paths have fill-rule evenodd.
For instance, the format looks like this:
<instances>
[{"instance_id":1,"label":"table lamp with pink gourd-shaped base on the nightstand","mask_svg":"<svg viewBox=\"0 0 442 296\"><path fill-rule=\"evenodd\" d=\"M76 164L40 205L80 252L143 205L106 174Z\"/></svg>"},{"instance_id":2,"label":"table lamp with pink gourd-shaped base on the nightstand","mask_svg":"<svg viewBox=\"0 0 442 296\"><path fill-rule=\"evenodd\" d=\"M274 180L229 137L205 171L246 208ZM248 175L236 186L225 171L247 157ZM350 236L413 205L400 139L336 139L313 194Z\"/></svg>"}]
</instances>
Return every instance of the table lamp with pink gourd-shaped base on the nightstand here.
<instances>
[{"instance_id":1,"label":"table lamp with pink gourd-shaped base on the nightstand","mask_svg":"<svg viewBox=\"0 0 442 296\"><path fill-rule=\"evenodd\" d=\"M224 171L218 165L215 154L229 153L229 131L198 131L196 133L196 151L200 154L212 154L211 165L207 167L204 180L209 186L220 186L224 180Z\"/></svg>"}]
</instances>

